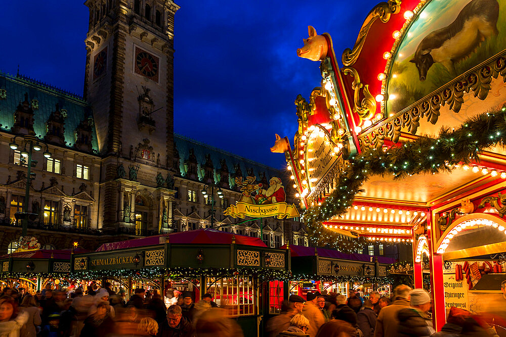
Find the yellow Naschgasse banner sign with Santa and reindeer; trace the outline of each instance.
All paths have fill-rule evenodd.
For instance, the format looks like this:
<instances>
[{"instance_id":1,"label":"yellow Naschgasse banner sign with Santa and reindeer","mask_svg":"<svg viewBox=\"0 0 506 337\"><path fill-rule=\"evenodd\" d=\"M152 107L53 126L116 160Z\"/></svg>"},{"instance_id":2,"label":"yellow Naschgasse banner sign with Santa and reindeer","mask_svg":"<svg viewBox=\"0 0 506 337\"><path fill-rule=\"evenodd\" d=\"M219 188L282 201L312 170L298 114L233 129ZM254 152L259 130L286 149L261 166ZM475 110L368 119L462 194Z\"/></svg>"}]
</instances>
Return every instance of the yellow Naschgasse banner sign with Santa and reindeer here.
<instances>
[{"instance_id":1,"label":"yellow Naschgasse banner sign with Santa and reindeer","mask_svg":"<svg viewBox=\"0 0 506 337\"><path fill-rule=\"evenodd\" d=\"M294 204L289 205L285 202L286 194L281 185L281 179L272 177L267 189L264 189L267 186L262 183L256 184L256 179L256 177L247 177L242 181L242 177L235 178L235 183L241 187L242 195L235 205L225 210L224 215L234 218L275 216L278 219L300 216Z\"/></svg>"}]
</instances>

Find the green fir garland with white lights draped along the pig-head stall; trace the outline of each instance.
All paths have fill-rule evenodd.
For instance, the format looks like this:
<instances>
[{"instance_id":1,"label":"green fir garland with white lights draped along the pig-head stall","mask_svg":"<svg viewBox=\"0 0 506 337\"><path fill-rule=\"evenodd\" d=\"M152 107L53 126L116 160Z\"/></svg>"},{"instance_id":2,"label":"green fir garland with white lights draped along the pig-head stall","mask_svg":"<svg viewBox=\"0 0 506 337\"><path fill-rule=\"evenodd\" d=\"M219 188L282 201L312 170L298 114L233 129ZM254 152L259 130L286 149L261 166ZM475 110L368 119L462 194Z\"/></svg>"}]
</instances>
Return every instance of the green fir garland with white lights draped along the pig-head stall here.
<instances>
[{"instance_id":1,"label":"green fir garland with white lights draped along the pig-head stall","mask_svg":"<svg viewBox=\"0 0 506 337\"><path fill-rule=\"evenodd\" d=\"M321 206L306 211L304 219L312 246L329 246L342 252L356 252L363 247L363 237L343 240L343 235L325 230L324 221L342 216L353 204L355 195L362 192L361 185L373 175L392 175L400 180L413 174L450 172L455 165L480 160L479 153L494 145L506 145L505 108L474 116L458 128L442 127L436 138L420 136L403 146L387 151L368 149L351 158L341 172L336 188ZM479 168L473 167L473 171ZM485 168L483 174L488 174ZM492 176L497 171L490 172ZM500 173L506 178L506 172Z\"/></svg>"}]
</instances>

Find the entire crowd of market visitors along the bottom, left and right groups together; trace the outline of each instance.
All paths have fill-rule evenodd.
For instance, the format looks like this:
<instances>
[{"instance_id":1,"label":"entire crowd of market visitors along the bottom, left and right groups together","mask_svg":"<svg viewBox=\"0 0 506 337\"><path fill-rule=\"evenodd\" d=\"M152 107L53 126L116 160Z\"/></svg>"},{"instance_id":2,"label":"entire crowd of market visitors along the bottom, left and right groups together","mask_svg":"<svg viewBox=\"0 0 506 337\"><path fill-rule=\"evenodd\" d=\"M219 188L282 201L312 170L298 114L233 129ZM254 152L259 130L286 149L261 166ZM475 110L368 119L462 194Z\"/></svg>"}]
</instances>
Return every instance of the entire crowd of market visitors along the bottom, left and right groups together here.
<instances>
[{"instance_id":1,"label":"entire crowd of market visitors along the bottom, left and right groups together","mask_svg":"<svg viewBox=\"0 0 506 337\"><path fill-rule=\"evenodd\" d=\"M110 284L83 294L46 288L35 295L5 288L0 295L0 337L242 337L226 311L210 294L195 303L193 293L174 291L163 301L156 292L137 288L128 302ZM434 331L431 297L407 285L392 298L377 292L368 298L351 290L341 294L291 295L282 312L266 323L268 337L492 337L495 330L479 316L451 308L447 323Z\"/></svg>"}]
</instances>

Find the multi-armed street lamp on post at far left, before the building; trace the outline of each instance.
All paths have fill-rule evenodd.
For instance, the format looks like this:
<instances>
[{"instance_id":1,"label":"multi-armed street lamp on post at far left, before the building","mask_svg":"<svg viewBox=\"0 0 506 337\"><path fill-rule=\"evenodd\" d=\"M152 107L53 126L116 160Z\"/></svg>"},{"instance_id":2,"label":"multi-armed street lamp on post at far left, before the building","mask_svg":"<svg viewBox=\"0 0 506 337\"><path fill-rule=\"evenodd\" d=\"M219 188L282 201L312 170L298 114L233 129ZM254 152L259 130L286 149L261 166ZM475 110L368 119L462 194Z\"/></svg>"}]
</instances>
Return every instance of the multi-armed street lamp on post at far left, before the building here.
<instances>
[{"instance_id":1,"label":"multi-armed street lamp on post at far left, before the building","mask_svg":"<svg viewBox=\"0 0 506 337\"><path fill-rule=\"evenodd\" d=\"M26 162L27 165L27 172L26 172L26 190L25 190L25 201L24 201L24 207L23 207L23 213L22 213L22 230L21 230L21 236L26 236L28 231L28 199L30 198L30 184L31 184L31 167L32 165L37 165L36 160L32 160L32 151L40 151L42 150L42 147L40 146L40 142L42 142L44 145L46 145L46 151L43 153L44 157L51 158L51 153L49 152L48 145L44 142L39 140L35 136L26 135L26 136L14 136L12 138L12 141L9 143L9 147L13 150L17 150L19 148L18 143L16 143L16 138L22 138L21 144L24 144L24 149L21 151L21 156L23 157L22 160ZM26 158L26 159L25 159Z\"/></svg>"}]
</instances>

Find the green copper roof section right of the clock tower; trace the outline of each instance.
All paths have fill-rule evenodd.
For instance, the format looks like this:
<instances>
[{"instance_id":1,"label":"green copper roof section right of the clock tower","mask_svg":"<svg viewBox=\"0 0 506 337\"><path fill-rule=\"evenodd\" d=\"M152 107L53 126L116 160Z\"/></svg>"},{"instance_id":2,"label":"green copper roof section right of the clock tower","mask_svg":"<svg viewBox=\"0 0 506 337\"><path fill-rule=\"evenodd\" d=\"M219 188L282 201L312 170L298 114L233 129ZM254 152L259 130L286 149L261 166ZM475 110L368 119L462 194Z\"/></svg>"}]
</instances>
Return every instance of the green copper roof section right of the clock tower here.
<instances>
[{"instance_id":1,"label":"green copper roof section right of the clock tower","mask_svg":"<svg viewBox=\"0 0 506 337\"><path fill-rule=\"evenodd\" d=\"M199 141L193 140L191 138L174 134L174 142L176 143L176 148L179 152L179 170L182 175L186 173L184 162L188 159L190 155L190 149L193 148L195 157L197 158L198 162L198 175L199 178L202 179L203 176L203 170L200 170L200 168L204 167L205 164L205 155L210 154L211 155L211 161L213 162L214 170L215 170L215 182L218 182L217 178L217 171L221 168L220 161L225 159L227 162L228 172L230 176L232 176L235 173L235 165L239 165L242 171L242 175L245 177L247 175L248 169L253 169L253 172L255 176L257 177L257 181L260 180L260 173L265 172L265 176L267 178L267 181L271 177L279 177L283 179L283 174L281 171L276 170L272 167L251 161L249 159L231 154L229 152L214 148L212 146L206 145L204 143L201 143ZM230 186L234 186L235 182L233 179L230 179Z\"/></svg>"}]
</instances>

